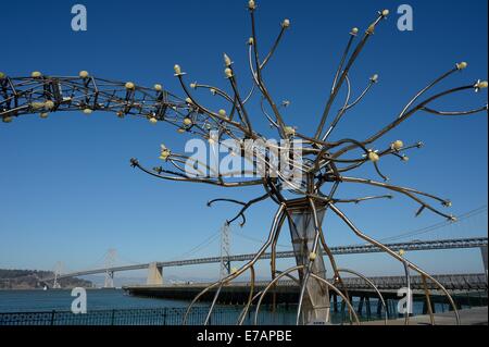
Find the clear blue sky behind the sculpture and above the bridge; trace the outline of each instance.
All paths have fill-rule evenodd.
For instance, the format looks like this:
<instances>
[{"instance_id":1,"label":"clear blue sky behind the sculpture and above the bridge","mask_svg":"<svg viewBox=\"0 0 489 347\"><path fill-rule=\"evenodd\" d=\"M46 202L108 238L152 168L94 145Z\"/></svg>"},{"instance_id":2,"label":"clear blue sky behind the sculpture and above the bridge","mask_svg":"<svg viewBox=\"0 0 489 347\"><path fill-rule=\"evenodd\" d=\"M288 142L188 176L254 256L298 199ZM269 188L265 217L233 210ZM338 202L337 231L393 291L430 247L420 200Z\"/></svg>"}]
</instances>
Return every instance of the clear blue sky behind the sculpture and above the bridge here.
<instances>
[{"instance_id":1,"label":"clear blue sky behind the sculpture and above the bridge","mask_svg":"<svg viewBox=\"0 0 489 347\"><path fill-rule=\"evenodd\" d=\"M8 1L2 4L0 71L12 76L92 75L162 83L180 94L173 77L179 63L188 82L226 87L222 54L226 51L244 78L250 35L247 1L80 1L88 9L88 32L71 30L76 2ZM414 9L414 32L397 29L397 4ZM265 78L278 99L292 101L287 122L311 133L324 108L325 96L353 26L362 29L376 11L390 9L351 73L358 95L374 73L378 84L348 115L338 137L365 138L390 122L406 101L454 63L469 69L440 88L487 78L487 1L260 1L262 47L271 45L281 20L291 20L283 46ZM487 92L450 98L440 109L471 109L486 103ZM210 101L212 102L212 101ZM256 110L258 112L258 110ZM256 115L259 117L260 115ZM211 198L252 198L260 189L223 190L206 186L159 182L131 170L128 160L158 163L162 141L174 150L184 137L164 124L120 121L112 114L59 113L47 121L24 117L0 125L0 268L52 269L62 260L71 270L93 265L109 248L133 261L165 260L185 253L215 234L236 207L206 208ZM378 146L398 138L423 140L426 147L410 154L408 164L386 160L384 171L393 184L417 187L453 200L453 214L487 205L487 114L440 119L419 113ZM373 178L372 168L359 174ZM368 194L362 186L344 187L344 197ZM265 202L250 211L239 233L264 239L276 207ZM346 208L358 226L386 238L430 225L439 218L414 219L417 207L402 197ZM467 235L487 235L487 221L475 223ZM336 218L326 222L331 245L356 244ZM455 236L463 236L456 232ZM288 245L288 232L281 244ZM234 252L252 252L259 245L235 237ZM217 243L198 256L218 253ZM480 271L477 251L413 255L434 272ZM453 261L447 261L453 259ZM400 271L386 258L341 258L350 268L383 274ZM179 270L206 275L213 269Z\"/></svg>"}]
</instances>

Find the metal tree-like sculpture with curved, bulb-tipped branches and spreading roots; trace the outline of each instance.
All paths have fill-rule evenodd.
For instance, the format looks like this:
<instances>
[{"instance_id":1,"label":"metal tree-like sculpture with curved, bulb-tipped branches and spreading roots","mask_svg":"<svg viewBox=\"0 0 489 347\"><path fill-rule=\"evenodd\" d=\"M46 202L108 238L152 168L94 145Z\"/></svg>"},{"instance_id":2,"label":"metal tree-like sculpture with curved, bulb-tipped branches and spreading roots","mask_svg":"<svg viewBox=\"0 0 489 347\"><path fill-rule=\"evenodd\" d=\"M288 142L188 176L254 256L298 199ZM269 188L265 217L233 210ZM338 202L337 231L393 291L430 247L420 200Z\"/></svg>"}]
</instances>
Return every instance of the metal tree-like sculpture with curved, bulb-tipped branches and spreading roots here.
<instances>
[{"instance_id":1,"label":"metal tree-like sculpture with curved, bulb-tipped branches and spreading roots","mask_svg":"<svg viewBox=\"0 0 489 347\"><path fill-rule=\"evenodd\" d=\"M378 293L381 302L385 303L379 290L364 275L354 271L338 268L335 258L329 250L327 237L322 226L323 219L328 210L338 215L356 236L368 244L379 247L394 260L401 262L406 270L408 284L410 283L410 271L419 273L425 283L427 300L429 300L429 292L426 282L428 280L432 281L435 285L447 295L459 321L456 307L450 297L450 294L440 283L427 272L404 259L402 255L392 251L381 243L364 234L339 208L339 206L343 203L359 203L372 199L388 199L392 198L392 196L379 195L341 199L337 197L336 193L341 184L374 186L386 191L399 193L413 199L419 205L417 214L421 214L425 210L430 210L443 218L454 220L452 215L441 212L426 200L432 200L437 203L441 203L443 207L450 207L450 201L416 189L390 185L386 182L387 177L380 171L379 161L381 158L394 156L403 161L408 161L409 158L404 152L414 148L421 148L423 146L422 142L404 146L401 140L397 140L385 145L385 148L381 150L374 150L372 149L372 146L377 140L383 139L390 131L398 127L418 112L453 116L487 112L487 104L479 109L463 112L444 112L431 108L434 101L453 94L462 92L464 90L479 91L480 89L487 88L487 82L478 80L475 84L447 89L442 92L424 98L428 91L447 79L447 77L467 67L467 63L465 62L457 63L453 69L436 78L427 87L416 94L392 122L388 123L387 126L369 138L365 140L351 138L344 138L338 141L329 140L330 135L337 128L347 112L350 112L359 104L369 89L378 82L378 76L374 75L363 92L361 92L359 97L352 98L349 72L360 57L366 42L373 36L377 26L383 20L387 18L389 11L384 10L378 12L375 21L364 33L361 33L358 28L351 30L347 48L341 57L333 82L333 87L328 95L324 113L319 119L317 131L312 135L304 135L285 122L283 108L287 107L288 102L277 103L274 101L263 76L263 72L273 59L286 30L290 26L290 21L285 20L281 23L281 29L275 44L266 55L262 55L262 52L259 49L260 42L255 29L256 4L253 0L249 1L248 10L251 17L252 29L252 35L248 41L249 69L251 71L253 87L246 94L242 94L238 85L234 63L226 54L224 57L224 73L229 83L230 92L215 86L197 83L192 83L188 87L185 82L186 74L179 65L175 65L175 76L180 82L186 94L185 100L164 91L161 85L155 85L153 89L148 89L136 86L130 82L116 83L95 78L85 71L80 72L77 77L46 76L39 72L35 72L32 74L32 77L11 78L0 73L0 94L3 98L0 99L0 116L3 122L10 123L16 116L30 113L40 113L41 117L47 117L49 112L54 111L83 110L86 114L90 114L93 111L110 111L115 112L120 117L130 114L146 117L153 124L159 122L170 123L175 125L179 133L193 134L209 141L211 146L226 142L225 140L227 139L233 139L239 144L237 147L228 146L227 149L230 154L251 163L251 173L260 171L259 176L238 179L236 178L238 175L246 176L250 172L240 170L239 172L223 173L195 158L172 152L165 146L162 146L161 149L161 159L165 163L164 166L149 170L142 166L138 160L131 160L131 165L134 168L140 169L152 176L163 179L204 183L221 187L263 186L265 194L248 202L233 199L217 199L209 202L209 206L223 201L241 206L242 208L238 215L231 219L229 223L241 218L243 224L246 222L246 211L251 206L265 199L272 199L278 206L278 211L273 219L268 238L263 247L256 252L254 259L241 269L234 271L229 276L222 278L205 288L190 305L188 312L190 312L192 306L204 294L210 290L216 290L205 324L209 323L223 286L226 286L248 271L251 272L251 292L249 301L239 318L239 324L244 322L244 318L252 305L256 305L256 321L258 312L265 295L274 288L279 280L286 276L294 280L300 285L300 299L297 315L298 324L317 321L329 323L330 292L335 292L336 295L344 300L350 309L351 318L359 323L359 319L350 302L348 288L344 287L341 280L341 273L350 273L364 278ZM360 42L355 46L356 39L359 39ZM227 107L218 111L205 107L193 95L193 91L197 89L208 89L212 95L221 98ZM334 112L334 104L339 98L340 91L343 89L347 95L346 100L341 102L339 111ZM256 111L251 112L249 110L249 101L255 94L260 94L260 111L263 113L264 120L275 128L281 140L286 140L284 141L285 145L284 142L280 142L275 146L272 145L271 148L267 138L258 133L253 123L253 121L256 120ZM300 139L302 141L301 156L299 159L296 156L297 148L294 148L293 145L290 145L290 142L287 142L292 139ZM251 141L252 145L247 146L247 141L244 140ZM284 168L278 168L274 164L276 157L287 158L287 164L285 166L289 174L284 172ZM197 173L195 175L188 174L188 168L186 166L188 163L190 163L191 166L195 166L195 169L197 168ZM375 172L384 179L384 182L376 182L350 175L350 172L365 164L373 164ZM301 179L290 179L290 173L291 176L299 176ZM327 191L324 191L325 189L327 189ZM297 265L280 272L276 269L275 255L278 237L285 221L288 222L290 227ZM272 281L264 290L256 294L254 293L254 267L269 248L272 249ZM334 271L333 283L328 282L326 277L324 256L327 256ZM296 272L298 273L297 277L293 275ZM428 305L428 308L430 306ZM431 320L434 320L432 312L430 312L430 315ZM408 320L409 317L406 317L406 322ZM185 320L184 323L186 323Z\"/></svg>"}]
</instances>

